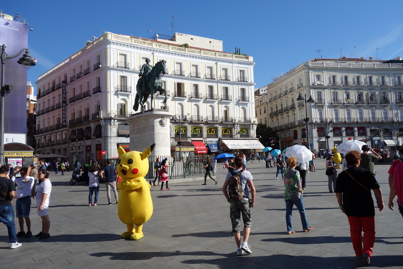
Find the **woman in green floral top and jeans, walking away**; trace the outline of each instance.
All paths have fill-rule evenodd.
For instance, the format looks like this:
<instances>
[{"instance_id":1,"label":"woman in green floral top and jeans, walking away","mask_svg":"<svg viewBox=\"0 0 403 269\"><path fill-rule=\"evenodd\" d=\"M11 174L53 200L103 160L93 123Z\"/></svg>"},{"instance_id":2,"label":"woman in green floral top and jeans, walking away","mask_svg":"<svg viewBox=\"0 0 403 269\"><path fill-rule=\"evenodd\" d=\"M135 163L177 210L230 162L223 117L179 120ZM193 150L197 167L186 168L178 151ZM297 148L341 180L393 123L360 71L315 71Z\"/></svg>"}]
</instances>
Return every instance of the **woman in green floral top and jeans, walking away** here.
<instances>
[{"instance_id":1,"label":"woman in green floral top and jeans, walking away","mask_svg":"<svg viewBox=\"0 0 403 269\"><path fill-rule=\"evenodd\" d=\"M302 187L301 187L301 177L299 172L295 170L296 168L296 157L291 156L288 158L289 167L284 171L284 200L286 201L286 223L287 223L287 234L295 234L295 231L291 225L291 216L293 212L293 207L299 211L301 216L302 229L304 232L309 232L312 227L309 226L308 220L305 215L304 202L302 201Z\"/></svg>"}]
</instances>

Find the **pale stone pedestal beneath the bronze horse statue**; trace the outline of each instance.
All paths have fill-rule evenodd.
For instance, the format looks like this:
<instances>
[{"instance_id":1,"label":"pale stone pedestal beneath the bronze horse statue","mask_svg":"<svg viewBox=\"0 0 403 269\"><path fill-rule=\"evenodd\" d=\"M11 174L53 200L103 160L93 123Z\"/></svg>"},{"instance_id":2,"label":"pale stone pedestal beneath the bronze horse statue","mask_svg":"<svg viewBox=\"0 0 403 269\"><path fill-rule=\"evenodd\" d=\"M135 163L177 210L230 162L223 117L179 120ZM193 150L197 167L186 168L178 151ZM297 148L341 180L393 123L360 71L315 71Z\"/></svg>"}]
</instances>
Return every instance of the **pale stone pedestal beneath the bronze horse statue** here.
<instances>
[{"instance_id":1,"label":"pale stone pedestal beneath the bronze horse statue","mask_svg":"<svg viewBox=\"0 0 403 269\"><path fill-rule=\"evenodd\" d=\"M170 156L172 116L173 113L167 111L148 110L126 118L130 124L130 151L142 152L155 143L150 156Z\"/></svg>"}]
</instances>

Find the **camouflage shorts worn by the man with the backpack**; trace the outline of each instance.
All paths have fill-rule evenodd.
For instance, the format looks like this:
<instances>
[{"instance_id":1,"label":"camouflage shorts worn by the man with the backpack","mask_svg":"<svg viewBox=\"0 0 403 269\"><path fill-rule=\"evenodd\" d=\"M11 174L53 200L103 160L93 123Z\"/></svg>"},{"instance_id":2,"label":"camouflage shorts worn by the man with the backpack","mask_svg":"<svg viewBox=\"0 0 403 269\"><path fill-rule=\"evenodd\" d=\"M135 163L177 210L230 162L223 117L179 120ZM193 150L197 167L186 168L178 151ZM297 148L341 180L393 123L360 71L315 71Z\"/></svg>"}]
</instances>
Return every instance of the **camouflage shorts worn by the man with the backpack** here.
<instances>
[{"instance_id":1,"label":"camouflage shorts worn by the man with the backpack","mask_svg":"<svg viewBox=\"0 0 403 269\"><path fill-rule=\"evenodd\" d=\"M232 232L241 233L241 213L243 227L250 228L252 225L252 210L249 207L249 201L241 199L240 201L231 201L230 204Z\"/></svg>"}]
</instances>

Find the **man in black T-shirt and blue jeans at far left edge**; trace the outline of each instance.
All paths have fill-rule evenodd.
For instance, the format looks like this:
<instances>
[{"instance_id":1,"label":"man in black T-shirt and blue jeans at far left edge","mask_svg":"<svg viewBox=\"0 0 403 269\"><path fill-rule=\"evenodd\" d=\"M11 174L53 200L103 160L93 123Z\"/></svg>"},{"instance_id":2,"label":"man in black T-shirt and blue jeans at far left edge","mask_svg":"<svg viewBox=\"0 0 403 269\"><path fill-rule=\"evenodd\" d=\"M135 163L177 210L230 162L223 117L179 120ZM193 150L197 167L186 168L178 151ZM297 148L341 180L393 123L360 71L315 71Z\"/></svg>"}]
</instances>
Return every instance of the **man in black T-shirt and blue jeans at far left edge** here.
<instances>
[{"instance_id":1,"label":"man in black T-shirt and blue jeans at far left edge","mask_svg":"<svg viewBox=\"0 0 403 269\"><path fill-rule=\"evenodd\" d=\"M0 222L7 226L8 239L11 242L10 248L20 247L15 234L14 208L11 202L15 197L15 185L11 179L5 176L9 171L8 165L0 167Z\"/></svg>"}]
</instances>

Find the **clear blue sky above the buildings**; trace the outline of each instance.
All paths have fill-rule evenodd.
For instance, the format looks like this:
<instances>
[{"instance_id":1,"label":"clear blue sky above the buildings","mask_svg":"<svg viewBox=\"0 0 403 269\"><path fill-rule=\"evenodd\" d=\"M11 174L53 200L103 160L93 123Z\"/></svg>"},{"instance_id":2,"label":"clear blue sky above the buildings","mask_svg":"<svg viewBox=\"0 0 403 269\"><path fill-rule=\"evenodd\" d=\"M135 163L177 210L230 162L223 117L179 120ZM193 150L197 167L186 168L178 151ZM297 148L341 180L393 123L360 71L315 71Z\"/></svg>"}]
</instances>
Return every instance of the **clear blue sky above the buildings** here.
<instances>
[{"instance_id":1,"label":"clear blue sky above the buildings","mask_svg":"<svg viewBox=\"0 0 403 269\"><path fill-rule=\"evenodd\" d=\"M403 57L402 7L402 0L16 0L0 4L4 13L19 14L34 29L28 33L31 56L38 60L28 70L32 84L104 30L148 38L148 29L151 35L167 34L176 16L176 32L223 40L224 51L239 47L241 53L253 56L255 88L320 56Z\"/></svg>"}]
</instances>

